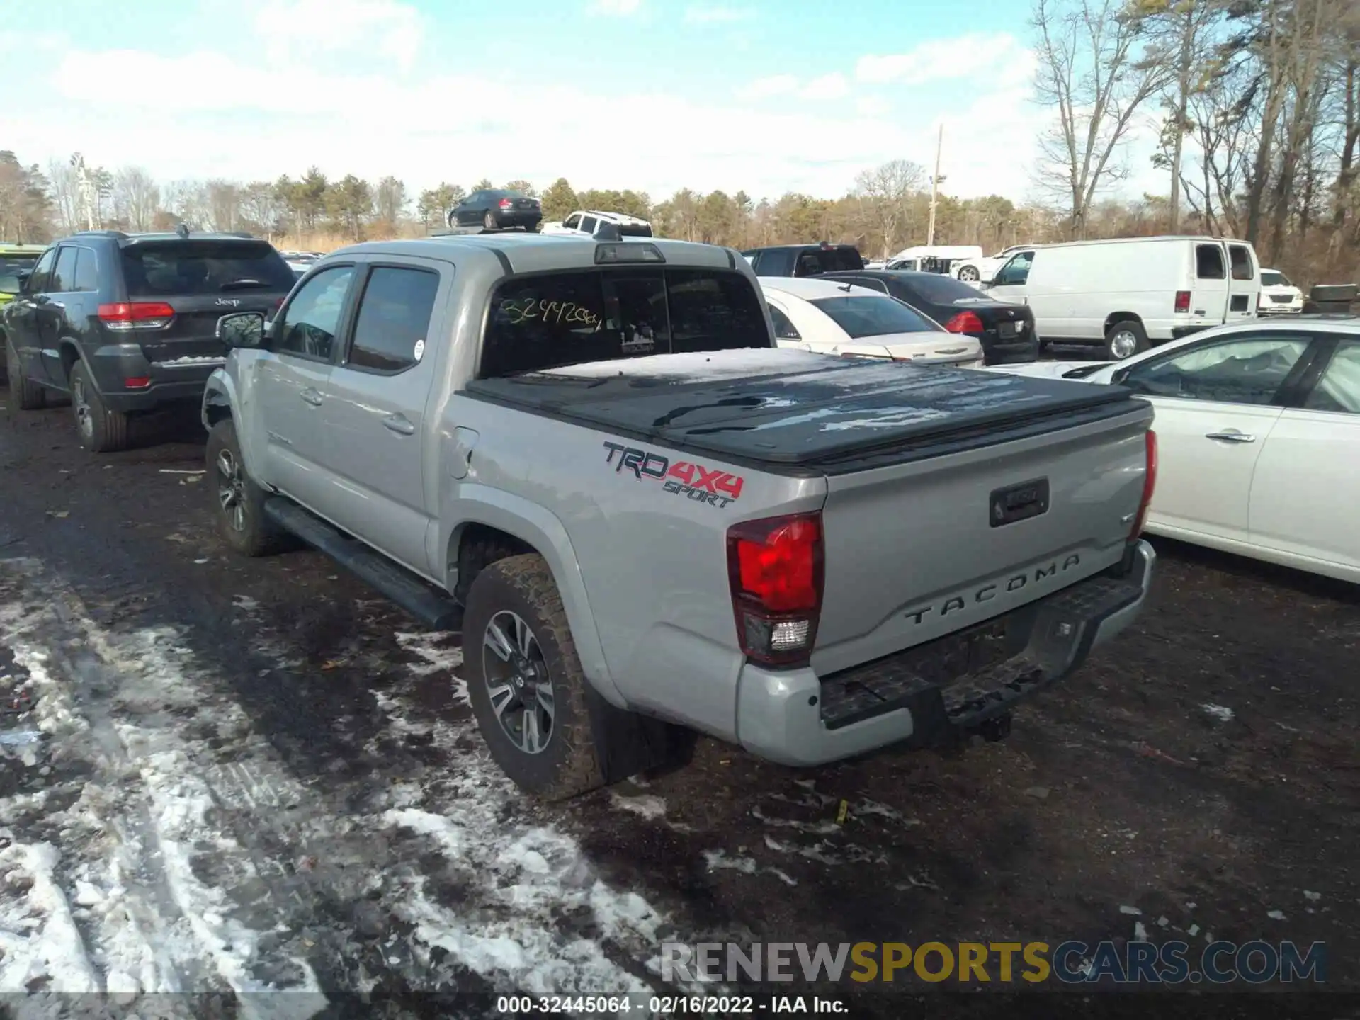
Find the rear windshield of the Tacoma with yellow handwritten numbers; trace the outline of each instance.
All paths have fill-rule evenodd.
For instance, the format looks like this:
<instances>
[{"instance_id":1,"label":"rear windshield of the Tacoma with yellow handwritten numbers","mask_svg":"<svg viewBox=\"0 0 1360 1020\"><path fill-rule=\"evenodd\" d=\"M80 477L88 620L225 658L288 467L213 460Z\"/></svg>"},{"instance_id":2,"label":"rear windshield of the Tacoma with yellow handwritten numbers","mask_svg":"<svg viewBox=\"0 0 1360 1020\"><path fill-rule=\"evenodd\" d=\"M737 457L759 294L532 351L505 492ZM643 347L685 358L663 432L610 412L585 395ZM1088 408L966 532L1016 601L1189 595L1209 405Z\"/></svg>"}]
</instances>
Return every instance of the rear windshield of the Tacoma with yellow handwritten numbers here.
<instances>
[{"instance_id":1,"label":"rear windshield of the Tacoma with yellow handwritten numbers","mask_svg":"<svg viewBox=\"0 0 1360 1020\"><path fill-rule=\"evenodd\" d=\"M734 272L609 269L521 276L491 299L479 378L651 354L770 347Z\"/></svg>"}]
</instances>

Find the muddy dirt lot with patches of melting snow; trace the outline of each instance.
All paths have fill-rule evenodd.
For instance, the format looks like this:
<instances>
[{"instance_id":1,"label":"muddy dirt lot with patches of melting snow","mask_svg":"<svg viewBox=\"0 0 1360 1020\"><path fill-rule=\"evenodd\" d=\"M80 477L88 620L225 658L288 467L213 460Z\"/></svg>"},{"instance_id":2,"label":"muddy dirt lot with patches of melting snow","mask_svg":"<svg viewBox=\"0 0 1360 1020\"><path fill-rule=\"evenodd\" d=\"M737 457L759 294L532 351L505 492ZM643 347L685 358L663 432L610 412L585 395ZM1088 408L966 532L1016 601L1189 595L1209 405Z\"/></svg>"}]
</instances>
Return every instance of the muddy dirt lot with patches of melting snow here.
<instances>
[{"instance_id":1,"label":"muddy dirt lot with patches of melting snow","mask_svg":"<svg viewBox=\"0 0 1360 1020\"><path fill-rule=\"evenodd\" d=\"M94 458L67 408L0 412L3 694L49 699L37 749L0 758L0 872L27 868L0 929L52 921L60 896L34 891L64 892L71 981L374 990L419 1012L435 989L661 987L666 937L1137 926L1323 941L1329 985L1355 987L1355 589L1155 541L1141 623L1004 743L800 772L700 740L683 768L543 808L481 755L457 635L413 634L316 554L234 559L189 473L192 416L141 432ZM14 855L42 840L61 855L46 876ZM57 987L50 967L30 985ZM898 1017L923 989L838 994Z\"/></svg>"}]
</instances>

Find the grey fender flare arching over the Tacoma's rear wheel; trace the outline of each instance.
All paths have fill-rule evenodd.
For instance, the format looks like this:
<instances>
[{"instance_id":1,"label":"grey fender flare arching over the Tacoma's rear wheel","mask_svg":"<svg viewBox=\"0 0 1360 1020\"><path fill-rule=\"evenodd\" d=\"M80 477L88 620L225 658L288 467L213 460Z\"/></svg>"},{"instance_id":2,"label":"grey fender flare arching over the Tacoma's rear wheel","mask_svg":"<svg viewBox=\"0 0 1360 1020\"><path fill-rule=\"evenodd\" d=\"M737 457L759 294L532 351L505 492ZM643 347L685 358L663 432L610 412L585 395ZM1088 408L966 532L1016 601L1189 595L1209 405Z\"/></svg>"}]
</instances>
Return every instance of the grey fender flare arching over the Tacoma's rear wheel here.
<instances>
[{"instance_id":1,"label":"grey fender flare arching over the Tacoma's rear wheel","mask_svg":"<svg viewBox=\"0 0 1360 1020\"><path fill-rule=\"evenodd\" d=\"M567 613L567 626L571 627L571 638L586 679L611 704L627 709L627 699L615 685L609 665L605 662L604 645L596 628L594 613L590 611L586 582L581 575L581 563L562 521L537 503L490 486L460 484L456 494L450 507L454 511L442 520L456 518L457 522L453 526L441 525L439 548L446 551L456 548L462 529L469 524L496 528L533 545L548 562L548 570L552 571L552 579L558 585ZM449 563L446 570L453 571L456 567L457 563ZM453 590L453 577L446 574L445 581L449 590Z\"/></svg>"}]
</instances>

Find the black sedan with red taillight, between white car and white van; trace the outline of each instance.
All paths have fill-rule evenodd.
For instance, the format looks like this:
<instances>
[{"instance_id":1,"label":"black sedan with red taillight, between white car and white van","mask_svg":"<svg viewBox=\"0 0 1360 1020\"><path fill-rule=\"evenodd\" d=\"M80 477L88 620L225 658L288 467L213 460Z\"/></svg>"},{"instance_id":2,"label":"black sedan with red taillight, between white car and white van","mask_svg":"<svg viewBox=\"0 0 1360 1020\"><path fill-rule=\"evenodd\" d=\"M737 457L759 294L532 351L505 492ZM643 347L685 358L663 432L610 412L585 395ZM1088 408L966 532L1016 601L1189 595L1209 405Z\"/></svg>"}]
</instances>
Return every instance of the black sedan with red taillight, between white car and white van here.
<instances>
[{"instance_id":1,"label":"black sedan with red taillight, between white car and white van","mask_svg":"<svg viewBox=\"0 0 1360 1020\"><path fill-rule=\"evenodd\" d=\"M967 333L982 343L987 364L1039 360L1039 336L1028 305L1012 305L982 294L952 276L892 269L823 273L823 280L845 280L883 291L910 305L951 333Z\"/></svg>"}]
</instances>

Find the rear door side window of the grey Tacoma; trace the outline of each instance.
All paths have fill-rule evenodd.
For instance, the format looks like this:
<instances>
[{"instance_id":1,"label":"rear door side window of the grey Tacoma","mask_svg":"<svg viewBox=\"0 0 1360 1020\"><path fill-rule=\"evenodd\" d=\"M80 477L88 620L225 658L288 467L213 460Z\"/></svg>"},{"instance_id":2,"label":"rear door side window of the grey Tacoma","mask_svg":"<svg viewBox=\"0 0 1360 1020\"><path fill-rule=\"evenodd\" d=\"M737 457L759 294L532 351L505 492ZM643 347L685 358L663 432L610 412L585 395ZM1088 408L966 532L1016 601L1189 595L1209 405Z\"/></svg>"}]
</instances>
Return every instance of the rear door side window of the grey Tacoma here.
<instances>
[{"instance_id":1,"label":"rear door side window of the grey Tacoma","mask_svg":"<svg viewBox=\"0 0 1360 1020\"><path fill-rule=\"evenodd\" d=\"M404 371L424 356L439 273L379 265L359 301L348 364L370 371Z\"/></svg>"}]
</instances>

